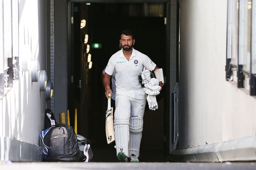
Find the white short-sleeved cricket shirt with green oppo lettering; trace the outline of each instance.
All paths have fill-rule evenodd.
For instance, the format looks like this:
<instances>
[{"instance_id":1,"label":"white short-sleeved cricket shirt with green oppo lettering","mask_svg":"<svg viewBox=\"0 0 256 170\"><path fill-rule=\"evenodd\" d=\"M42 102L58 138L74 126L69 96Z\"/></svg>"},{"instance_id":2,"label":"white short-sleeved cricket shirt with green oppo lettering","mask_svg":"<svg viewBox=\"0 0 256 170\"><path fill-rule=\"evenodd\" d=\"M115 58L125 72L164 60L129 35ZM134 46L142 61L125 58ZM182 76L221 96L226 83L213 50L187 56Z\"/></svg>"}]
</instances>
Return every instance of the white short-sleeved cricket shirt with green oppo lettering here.
<instances>
[{"instance_id":1,"label":"white short-sleeved cricket shirt with green oppo lettering","mask_svg":"<svg viewBox=\"0 0 256 170\"><path fill-rule=\"evenodd\" d=\"M141 52L132 48L132 55L128 61L123 53L123 49L112 55L108 61L105 72L112 75L116 70L116 87L121 90L138 90L141 87L138 76L143 67L154 70L156 64Z\"/></svg>"}]
</instances>

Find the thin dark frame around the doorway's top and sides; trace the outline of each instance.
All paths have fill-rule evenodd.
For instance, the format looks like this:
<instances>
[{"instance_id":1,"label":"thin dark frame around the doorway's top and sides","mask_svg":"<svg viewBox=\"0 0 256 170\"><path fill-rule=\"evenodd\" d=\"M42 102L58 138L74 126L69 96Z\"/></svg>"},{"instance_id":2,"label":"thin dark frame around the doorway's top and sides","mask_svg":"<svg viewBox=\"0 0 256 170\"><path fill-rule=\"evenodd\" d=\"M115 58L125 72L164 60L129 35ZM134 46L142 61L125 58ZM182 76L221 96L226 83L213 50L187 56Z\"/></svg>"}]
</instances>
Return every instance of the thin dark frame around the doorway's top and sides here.
<instances>
[{"instance_id":1,"label":"thin dark frame around the doorway's top and sides","mask_svg":"<svg viewBox=\"0 0 256 170\"><path fill-rule=\"evenodd\" d=\"M71 56L71 7L72 3L165 3L166 4L166 78L165 78L165 86L166 94L164 100L164 155L169 157L170 154L170 143L171 143L171 93L170 93L170 41L171 41L171 33L170 33L170 18L171 18L171 0L68 0L68 66L69 66L69 59ZM69 75L69 73L68 73ZM68 83L69 84L69 83ZM69 88L69 87L68 87ZM68 90L69 91L69 90ZM168 97L169 96L169 97Z\"/></svg>"}]
</instances>

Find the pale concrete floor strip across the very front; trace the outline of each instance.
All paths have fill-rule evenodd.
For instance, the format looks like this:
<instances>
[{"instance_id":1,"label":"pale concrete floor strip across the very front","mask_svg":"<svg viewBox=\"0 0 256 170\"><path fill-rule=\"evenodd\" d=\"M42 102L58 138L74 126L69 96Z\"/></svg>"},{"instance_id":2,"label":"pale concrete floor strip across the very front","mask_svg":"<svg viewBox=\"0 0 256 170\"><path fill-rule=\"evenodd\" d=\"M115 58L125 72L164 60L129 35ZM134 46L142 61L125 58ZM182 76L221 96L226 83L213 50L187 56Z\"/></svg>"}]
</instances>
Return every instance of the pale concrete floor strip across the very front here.
<instances>
[{"instance_id":1,"label":"pale concrete floor strip across the very front","mask_svg":"<svg viewBox=\"0 0 256 170\"><path fill-rule=\"evenodd\" d=\"M19 170L66 170L66 169L92 169L92 170L153 170L153 169L168 169L168 170L255 170L256 163L104 163L104 162L89 162L89 163L49 163L49 162L23 162L12 163L11 161L0 162L1 170L5 169L19 169Z\"/></svg>"}]
</instances>

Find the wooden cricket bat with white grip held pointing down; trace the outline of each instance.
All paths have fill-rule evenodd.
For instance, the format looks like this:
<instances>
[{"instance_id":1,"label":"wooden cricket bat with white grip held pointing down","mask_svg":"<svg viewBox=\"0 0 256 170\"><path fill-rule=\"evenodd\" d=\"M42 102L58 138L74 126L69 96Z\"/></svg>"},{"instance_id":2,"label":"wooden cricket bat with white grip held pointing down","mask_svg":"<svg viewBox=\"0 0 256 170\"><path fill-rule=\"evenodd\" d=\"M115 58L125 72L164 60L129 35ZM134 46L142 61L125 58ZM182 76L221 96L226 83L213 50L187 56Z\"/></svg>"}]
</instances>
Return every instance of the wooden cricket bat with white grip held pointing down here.
<instances>
[{"instance_id":1,"label":"wooden cricket bat with white grip held pointing down","mask_svg":"<svg viewBox=\"0 0 256 170\"><path fill-rule=\"evenodd\" d=\"M108 109L106 111L106 137L108 144L115 141L113 107L111 107L111 96L108 93Z\"/></svg>"}]
</instances>

